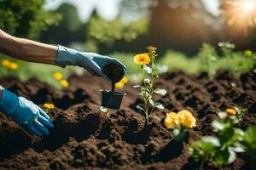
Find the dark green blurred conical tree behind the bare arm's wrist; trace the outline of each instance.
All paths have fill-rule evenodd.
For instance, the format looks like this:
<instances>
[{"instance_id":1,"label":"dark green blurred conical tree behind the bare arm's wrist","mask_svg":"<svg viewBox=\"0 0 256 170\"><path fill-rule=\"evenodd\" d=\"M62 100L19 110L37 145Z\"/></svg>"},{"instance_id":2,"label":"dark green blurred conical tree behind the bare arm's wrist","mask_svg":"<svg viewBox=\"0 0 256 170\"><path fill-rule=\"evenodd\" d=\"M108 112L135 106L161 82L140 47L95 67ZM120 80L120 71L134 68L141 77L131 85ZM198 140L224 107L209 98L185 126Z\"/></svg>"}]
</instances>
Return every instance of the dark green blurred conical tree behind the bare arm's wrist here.
<instances>
[{"instance_id":1,"label":"dark green blurred conical tree behind the bare arm's wrist","mask_svg":"<svg viewBox=\"0 0 256 170\"><path fill-rule=\"evenodd\" d=\"M42 32L42 41L66 46L71 42L85 42L87 26L79 19L78 10L73 4L62 3L54 12L62 14L62 20L58 26L50 26Z\"/></svg>"}]
</instances>

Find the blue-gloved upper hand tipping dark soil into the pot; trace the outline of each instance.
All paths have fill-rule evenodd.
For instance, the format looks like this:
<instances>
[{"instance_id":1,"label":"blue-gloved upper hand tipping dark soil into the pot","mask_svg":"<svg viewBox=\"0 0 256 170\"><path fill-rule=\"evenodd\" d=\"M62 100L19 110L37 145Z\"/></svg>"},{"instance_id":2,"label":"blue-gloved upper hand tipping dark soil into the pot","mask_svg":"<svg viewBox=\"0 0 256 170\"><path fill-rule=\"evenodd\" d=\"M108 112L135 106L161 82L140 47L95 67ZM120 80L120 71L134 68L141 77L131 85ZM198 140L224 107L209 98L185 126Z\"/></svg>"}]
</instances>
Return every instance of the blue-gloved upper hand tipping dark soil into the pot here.
<instances>
[{"instance_id":1,"label":"blue-gloved upper hand tipping dark soil into the pot","mask_svg":"<svg viewBox=\"0 0 256 170\"><path fill-rule=\"evenodd\" d=\"M118 59L95 53L81 53L74 49L66 48L60 45L58 47L55 65L59 65L63 68L67 65L78 65L89 71L93 76L104 77L108 81L110 81L110 77L102 72L104 65L108 65L110 63L119 65L121 68L123 68L124 73L126 73L125 65L120 63Z\"/></svg>"}]
</instances>

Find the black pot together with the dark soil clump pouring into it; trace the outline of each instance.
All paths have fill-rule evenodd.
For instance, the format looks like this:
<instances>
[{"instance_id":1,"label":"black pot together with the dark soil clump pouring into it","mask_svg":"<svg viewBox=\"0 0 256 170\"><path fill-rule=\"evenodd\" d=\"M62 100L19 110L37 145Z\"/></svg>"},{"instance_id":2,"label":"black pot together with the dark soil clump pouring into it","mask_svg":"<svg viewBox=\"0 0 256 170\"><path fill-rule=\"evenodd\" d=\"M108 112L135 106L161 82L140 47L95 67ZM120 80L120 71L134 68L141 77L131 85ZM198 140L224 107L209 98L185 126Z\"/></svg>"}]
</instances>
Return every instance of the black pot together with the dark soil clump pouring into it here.
<instances>
[{"instance_id":1,"label":"black pot together with the dark soil clump pouring into it","mask_svg":"<svg viewBox=\"0 0 256 170\"><path fill-rule=\"evenodd\" d=\"M111 80L112 89L111 91L105 89L100 90L102 92L102 107L113 110L119 110L120 105L122 103L122 99L126 94L122 92L116 92L115 84L124 77L125 71L119 65L110 63L104 66L103 72Z\"/></svg>"}]
</instances>

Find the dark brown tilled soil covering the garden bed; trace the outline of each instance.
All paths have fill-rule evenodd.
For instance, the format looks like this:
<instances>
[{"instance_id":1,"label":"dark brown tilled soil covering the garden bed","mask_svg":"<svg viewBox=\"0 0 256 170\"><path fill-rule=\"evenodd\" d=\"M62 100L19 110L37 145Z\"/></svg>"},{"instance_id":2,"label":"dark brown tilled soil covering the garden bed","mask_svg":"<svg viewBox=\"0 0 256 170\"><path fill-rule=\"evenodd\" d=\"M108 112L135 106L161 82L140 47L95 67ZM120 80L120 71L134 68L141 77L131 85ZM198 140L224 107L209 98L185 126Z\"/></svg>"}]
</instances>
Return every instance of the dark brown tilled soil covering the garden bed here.
<instances>
[{"instance_id":1,"label":"dark brown tilled soil covering the garden bed","mask_svg":"<svg viewBox=\"0 0 256 170\"><path fill-rule=\"evenodd\" d=\"M166 111L155 111L152 124L136 110L140 102L137 89L129 84L123 91L122 110L112 111L111 119L99 111L99 89L110 89L110 82L83 75L69 78L70 86L57 90L37 79L19 82L2 79L0 84L37 105L54 103L49 116L55 124L49 136L35 137L0 114L0 169L196 169L188 152L191 142L212 135L211 122L218 111L237 106L247 109L239 126L256 124L256 75L239 78L219 71L213 80L203 73L198 77L183 72L160 77L156 86L166 88L157 100L166 111L187 109L196 116L196 127L189 141L179 144L163 126ZM231 82L236 83L232 88ZM224 169L248 169L247 156L239 155ZM215 168L214 166L205 168Z\"/></svg>"}]
</instances>

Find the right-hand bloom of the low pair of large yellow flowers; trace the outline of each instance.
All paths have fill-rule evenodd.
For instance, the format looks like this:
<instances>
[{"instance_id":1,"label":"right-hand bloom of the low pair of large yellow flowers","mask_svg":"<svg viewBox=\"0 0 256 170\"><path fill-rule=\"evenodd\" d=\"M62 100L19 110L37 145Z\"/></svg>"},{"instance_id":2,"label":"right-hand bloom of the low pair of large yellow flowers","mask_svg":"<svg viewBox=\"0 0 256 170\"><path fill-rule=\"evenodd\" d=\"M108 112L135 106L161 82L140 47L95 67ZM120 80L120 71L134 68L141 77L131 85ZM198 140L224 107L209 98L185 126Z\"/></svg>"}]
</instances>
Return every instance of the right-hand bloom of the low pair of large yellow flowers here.
<instances>
[{"instance_id":1,"label":"right-hand bloom of the low pair of large yellow flowers","mask_svg":"<svg viewBox=\"0 0 256 170\"><path fill-rule=\"evenodd\" d=\"M195 127L195 117L190 111L182 110L177 112L178 120L183 125L183 127Z\"/></svg>"}]
</instances>

